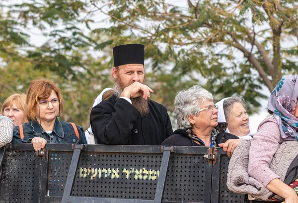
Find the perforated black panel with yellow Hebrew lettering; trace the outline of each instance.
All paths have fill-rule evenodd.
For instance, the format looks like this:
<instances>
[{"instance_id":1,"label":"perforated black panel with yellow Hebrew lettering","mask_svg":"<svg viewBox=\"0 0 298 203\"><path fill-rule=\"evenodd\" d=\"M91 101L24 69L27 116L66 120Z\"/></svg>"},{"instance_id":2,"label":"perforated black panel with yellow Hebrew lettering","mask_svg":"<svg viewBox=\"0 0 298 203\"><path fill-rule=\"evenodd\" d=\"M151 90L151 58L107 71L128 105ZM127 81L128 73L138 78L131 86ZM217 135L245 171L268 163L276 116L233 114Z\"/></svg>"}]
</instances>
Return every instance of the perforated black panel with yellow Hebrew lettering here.
<instances>
[{"instance_id":1,"label":"perforated black panel with yellow Hebrew lettering","mask_svg":"<svg viewBox=\"0 0 298 203\"><path fill-rule=\"evenodd\" d=\"M83 153L72 196L153 200L162 154Z\"/></svg>"}]
</instances>

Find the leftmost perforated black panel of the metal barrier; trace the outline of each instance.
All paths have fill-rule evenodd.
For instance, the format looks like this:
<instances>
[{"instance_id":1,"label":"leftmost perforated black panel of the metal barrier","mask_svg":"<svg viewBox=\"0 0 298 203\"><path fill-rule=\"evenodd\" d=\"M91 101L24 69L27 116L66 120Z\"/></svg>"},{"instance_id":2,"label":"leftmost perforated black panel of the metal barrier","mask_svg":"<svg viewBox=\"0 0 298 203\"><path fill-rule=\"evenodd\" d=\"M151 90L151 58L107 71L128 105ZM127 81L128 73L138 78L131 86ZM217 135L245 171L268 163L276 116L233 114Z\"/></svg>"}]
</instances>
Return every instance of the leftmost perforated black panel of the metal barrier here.
<instances>
[{"instance_id":1,"label":"leftmost perforated black panel of the metal barrier","mask_svg":"<svg viewBox=\"0 0 298 203\"><path fill-rule=\"evenodd\" d=\"M0 181L0 203L33 202L35 176L39 174L35 165L39 161L34 151L6 151Z\"/></svg>"}]
</instances>

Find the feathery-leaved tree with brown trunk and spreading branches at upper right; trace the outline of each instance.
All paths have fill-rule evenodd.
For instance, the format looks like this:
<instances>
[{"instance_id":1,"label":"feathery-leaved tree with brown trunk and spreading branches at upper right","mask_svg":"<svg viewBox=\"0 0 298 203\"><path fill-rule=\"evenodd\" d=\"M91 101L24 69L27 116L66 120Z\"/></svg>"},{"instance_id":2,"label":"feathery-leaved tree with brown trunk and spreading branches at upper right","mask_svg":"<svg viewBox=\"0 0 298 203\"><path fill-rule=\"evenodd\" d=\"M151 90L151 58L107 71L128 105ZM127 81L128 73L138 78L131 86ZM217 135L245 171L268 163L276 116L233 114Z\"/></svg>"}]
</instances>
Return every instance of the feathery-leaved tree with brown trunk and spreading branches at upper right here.
<instances>
[{"instance_id":1,"label":"feathery-leaved tree with brown trunk and spreading branches at upper right","mask_svg":"<svg viewBox=\"0 0 298 203\"><path fill-rule=\"evenodd\" d=\"M265 98L264 85L272 91L283 74L297 70L298 47L288 46L290 37L298 39L296 1L97 2L112 23L105 32L118 27L115 44L141 40L154 70L172 62L173 75L204 78L216 98L237 93L253 111Z\"/></svg>"}]
</instances>

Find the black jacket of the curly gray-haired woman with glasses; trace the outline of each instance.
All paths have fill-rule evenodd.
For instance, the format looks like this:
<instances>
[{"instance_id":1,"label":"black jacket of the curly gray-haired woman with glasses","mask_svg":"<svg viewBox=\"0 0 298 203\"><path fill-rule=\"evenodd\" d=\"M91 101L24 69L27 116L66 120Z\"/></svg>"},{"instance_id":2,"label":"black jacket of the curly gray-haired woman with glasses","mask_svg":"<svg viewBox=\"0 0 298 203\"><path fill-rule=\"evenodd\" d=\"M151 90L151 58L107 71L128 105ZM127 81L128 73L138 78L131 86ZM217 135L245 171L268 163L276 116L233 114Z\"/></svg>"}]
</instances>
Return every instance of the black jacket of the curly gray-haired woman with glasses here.
<instances>
[{"instance_id":1,"label":"black jacket of the curly gray-haired woman with glasses","mask_svg":"<svg viewBox=\"0 0 298 203\"><path fill-rule=\"evenodd\" d=\"M239 137L233 134L224 132L226 127L223 128L223 125L221 125L221 123L219 123L219 126L217 126L216 128L219 130L219 134L217 135L217 138L216 138L217 144L224 143L228 139L239 139ZM188 137L187 133L188 132L186 132L185 129L175 130L173 135L167 138L166 140L164 140L161 143L161 145L162 146L205 146L203 142L199 141L200 144L198 144L195 141L193 141L193 139Z\"/></svg>"}]
</instances>

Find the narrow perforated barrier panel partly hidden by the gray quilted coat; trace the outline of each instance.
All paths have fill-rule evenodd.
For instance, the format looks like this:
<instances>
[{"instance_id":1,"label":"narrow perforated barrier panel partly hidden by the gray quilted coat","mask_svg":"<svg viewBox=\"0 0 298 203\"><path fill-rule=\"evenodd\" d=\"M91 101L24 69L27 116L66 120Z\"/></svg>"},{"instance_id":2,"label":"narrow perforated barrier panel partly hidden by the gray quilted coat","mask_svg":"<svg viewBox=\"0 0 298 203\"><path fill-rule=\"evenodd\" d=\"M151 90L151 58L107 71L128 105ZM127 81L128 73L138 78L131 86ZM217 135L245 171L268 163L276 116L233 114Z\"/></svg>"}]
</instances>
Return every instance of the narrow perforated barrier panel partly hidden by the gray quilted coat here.
<instances>
[{"instance_id":1,"label":"narrow perforated barrier panel partly hidden by the gray quilted coat","mask_svg":"<svg viewBox=\"0 0 298 203\"><path fill-rule=\"evenodd\" d=\"M244 203L245 195L232 193L226 186L229 159L230 158L227 155L221 155L219 203Z\"/></svg>"}]
</instances>

